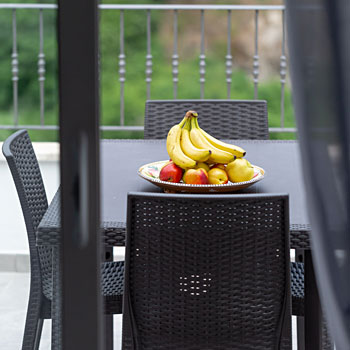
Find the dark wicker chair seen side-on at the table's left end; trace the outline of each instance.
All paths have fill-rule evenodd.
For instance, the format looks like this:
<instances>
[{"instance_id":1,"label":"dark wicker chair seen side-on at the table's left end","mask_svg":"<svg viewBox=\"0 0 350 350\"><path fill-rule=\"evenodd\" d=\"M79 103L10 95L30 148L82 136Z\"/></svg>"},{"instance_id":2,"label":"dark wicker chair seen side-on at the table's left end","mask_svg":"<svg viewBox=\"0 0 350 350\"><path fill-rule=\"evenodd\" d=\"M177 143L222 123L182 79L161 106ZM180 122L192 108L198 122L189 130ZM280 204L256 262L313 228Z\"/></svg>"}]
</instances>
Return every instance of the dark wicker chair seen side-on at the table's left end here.
<instances>
[{"instance_id":1,"label":"dark wicker chair seen side-on at the table's left end","mask_svg":"<svg viewBox=\"0 0 350 350\"><path fill-rule=\"evenodd\" d=\"M22 349L37 350L45 319L51 318L52 251L37 247L35 231L46 209L44 184L30 138L25 130L11 135L3 144L3 154L16 185L26 224L30 251L30 294ZM105 262L101 266L101 288L105 313L122 312L124 262Z\"/></svg>"}]
</instances>

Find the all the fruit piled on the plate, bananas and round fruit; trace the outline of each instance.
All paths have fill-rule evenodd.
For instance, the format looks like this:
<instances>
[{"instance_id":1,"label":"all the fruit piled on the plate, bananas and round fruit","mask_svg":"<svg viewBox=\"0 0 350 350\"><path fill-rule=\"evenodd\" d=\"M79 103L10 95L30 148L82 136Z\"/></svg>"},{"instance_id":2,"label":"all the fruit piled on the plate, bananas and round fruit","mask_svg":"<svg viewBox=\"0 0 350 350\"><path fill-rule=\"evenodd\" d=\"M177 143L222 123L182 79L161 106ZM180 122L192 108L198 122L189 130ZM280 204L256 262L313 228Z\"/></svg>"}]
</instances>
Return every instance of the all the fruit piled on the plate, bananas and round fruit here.
<instances>
[{"instance_id":1,"label":"all the fruit piled on the plate, bananas and round fruit","mask_svg":"<svg viewBox=\"0 0 350 350\"><path fill-rule=\"evenodd\" d=\"M254 177L254 167L243 158L245 150L201 129L195 111L188 111L169 130L166 147L170 161L160 171L162 181L203 185L243 182Z\"/></svg>"}]
</instances>

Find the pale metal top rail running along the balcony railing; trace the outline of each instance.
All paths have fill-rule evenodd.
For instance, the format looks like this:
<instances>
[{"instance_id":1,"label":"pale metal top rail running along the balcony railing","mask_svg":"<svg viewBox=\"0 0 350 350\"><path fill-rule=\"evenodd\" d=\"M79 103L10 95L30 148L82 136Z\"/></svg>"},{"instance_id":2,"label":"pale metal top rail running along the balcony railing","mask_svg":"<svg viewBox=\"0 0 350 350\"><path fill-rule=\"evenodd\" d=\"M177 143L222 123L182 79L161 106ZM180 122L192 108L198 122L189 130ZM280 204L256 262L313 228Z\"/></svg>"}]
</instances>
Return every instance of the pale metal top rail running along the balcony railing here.
<instances>
[{"instance_id":1,"label":"pale metal top rail running along the balcony railing","mask_svg":"<svg viewBox=\"0 0 350 350\"><path fill-rule=\"evenodd\" d=\"M0 9L57 9L56 4L0 4ZM101 4L101 10L284 10L284 5L128 5Z\"/></svg>"}]
</instances>

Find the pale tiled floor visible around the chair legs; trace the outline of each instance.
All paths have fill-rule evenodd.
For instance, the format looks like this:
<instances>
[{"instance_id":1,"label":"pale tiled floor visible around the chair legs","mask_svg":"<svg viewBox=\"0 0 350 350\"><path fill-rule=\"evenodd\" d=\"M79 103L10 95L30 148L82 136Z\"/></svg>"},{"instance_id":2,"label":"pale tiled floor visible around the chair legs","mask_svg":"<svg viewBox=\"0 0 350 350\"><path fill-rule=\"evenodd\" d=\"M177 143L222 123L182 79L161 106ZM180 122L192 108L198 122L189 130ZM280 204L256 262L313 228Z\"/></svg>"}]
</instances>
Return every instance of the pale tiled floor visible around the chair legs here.
<instances>
[{"instance_id":1,"label":"pale tiled floor visible around the chair legs","mask_svg":"<svg viewBox=\"0 0 350 350\"><path fill-rule=\"evenodd\" d=\"M21 348L29 291L29 274L19 272L0 273L0 349ZM120 349L121 316L115 317L114 349ZM51 321L44 322L40 350L50 349ZM293 331L295 319L293 317ZM295 332L293 332L293 345ZM296 346L293 346L296 350Z\"/></svg>"}]
</instances>

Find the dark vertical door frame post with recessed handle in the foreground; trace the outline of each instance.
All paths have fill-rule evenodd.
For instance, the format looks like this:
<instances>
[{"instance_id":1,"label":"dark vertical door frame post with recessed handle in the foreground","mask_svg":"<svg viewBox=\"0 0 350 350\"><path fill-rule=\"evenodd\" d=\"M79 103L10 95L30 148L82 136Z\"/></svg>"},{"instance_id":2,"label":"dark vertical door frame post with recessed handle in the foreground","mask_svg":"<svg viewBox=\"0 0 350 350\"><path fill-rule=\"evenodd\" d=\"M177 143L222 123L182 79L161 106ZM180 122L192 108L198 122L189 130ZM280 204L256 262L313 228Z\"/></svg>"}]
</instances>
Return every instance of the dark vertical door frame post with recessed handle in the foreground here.
<instances>
[{"instance_id":1,"label":"dark vertical door frame post with recessed handle in the foreground","mask_svg":"<svg viewBox=\"0 0 350 350\"><path fill-rule=\"evenodd\" d=\"M103 349L98 1L59 0L62 348Z\"/></svg>"}]
</instances>

